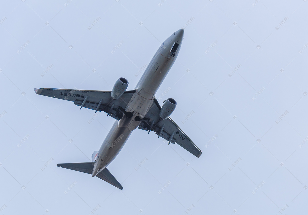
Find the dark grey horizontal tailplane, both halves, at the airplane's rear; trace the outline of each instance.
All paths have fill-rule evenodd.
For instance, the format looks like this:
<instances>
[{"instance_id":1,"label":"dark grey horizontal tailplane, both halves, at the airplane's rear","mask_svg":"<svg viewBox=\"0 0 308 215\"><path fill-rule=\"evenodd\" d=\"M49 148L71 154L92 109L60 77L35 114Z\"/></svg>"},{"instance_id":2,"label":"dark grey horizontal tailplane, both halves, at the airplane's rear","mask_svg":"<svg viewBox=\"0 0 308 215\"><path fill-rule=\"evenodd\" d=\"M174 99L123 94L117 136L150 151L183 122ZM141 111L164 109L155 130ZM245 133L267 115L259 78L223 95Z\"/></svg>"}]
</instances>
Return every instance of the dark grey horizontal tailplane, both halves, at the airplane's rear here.
<instances>
[{"instance_id":1,"label":"dark grey horizontal tailplane, both halves, at the airplane's rear","mask_svg":"<svg viewBox=\"0 0 308 215\"><path fill-rule=\"evenodd\" d=\"M94 153L93 153L94 154ZM87 163L65 163L65 164L57 164L57 166L66 168L66 169L72 169L75 171L79 171L82 173L88 173L92 174L94 162L87 162ZM103 169L100 173L96 175L96 177L99 177L100 179L108 182L109 184L119 188L123 189L122 185L115 179L115 177L109 172L107 168Z\"/></svg>"}]
</instances>

